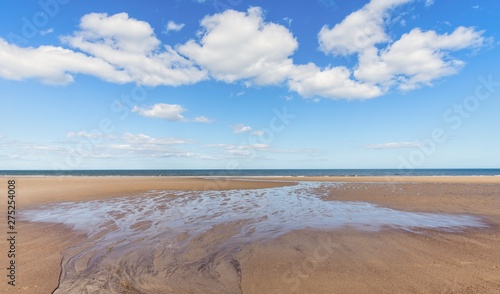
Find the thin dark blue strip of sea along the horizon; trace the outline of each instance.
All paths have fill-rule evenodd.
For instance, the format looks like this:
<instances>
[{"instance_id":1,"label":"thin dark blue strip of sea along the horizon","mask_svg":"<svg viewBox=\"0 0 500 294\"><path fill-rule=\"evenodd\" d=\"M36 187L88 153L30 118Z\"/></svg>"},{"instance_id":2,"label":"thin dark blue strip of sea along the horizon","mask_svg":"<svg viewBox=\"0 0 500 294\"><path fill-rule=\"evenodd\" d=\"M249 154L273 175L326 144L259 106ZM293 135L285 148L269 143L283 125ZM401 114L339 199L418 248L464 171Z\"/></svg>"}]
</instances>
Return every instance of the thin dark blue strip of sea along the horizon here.
<instances>
[{"instance_id":1,"label":"thin dark blue strip of sea along the horizon","mask_svg":"<svg viewBox=\"0 0 500 294\"><path fill-rule=\"evenodd\" d=\"M500 169L0 170L0 176L500 176Z\"/></svg>"}]
</instances>

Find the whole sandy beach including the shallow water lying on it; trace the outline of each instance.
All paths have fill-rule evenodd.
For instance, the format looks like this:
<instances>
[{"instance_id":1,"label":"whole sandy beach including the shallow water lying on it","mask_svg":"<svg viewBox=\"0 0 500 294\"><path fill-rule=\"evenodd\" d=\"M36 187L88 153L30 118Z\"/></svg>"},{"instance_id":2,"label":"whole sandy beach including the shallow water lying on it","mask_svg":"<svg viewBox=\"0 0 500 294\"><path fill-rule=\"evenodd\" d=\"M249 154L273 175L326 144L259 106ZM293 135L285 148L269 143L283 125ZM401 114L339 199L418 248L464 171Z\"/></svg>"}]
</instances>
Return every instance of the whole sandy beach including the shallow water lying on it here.
<instances>
[{"instance_id":1,"label":"whole sandy beach including the shallow water lying on it","mask_svg":"<svg viewBox=\"0 0 500 294\"><path fill-rule=\"evenodd\" d=\"M500 177L7 179L19 293L500 293Z\"/></svg>"}]
</instances>

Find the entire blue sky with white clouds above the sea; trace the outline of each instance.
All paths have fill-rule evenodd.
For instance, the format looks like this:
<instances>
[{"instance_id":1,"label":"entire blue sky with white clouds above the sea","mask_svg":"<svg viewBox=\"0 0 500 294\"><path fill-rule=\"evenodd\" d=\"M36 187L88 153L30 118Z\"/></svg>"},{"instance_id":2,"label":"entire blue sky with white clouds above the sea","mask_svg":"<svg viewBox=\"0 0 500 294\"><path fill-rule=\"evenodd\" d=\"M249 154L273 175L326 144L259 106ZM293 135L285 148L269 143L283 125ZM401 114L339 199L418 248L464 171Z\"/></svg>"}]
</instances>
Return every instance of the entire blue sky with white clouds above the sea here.
<instances>
[{"instance_id":1,"label":"entire blue sky with white clouds above the sea","mask_svg":"<svg viewBox=\"0 0 500 294\"><path fill-rule=\"evenodd\" d=\"M0 170L500 168L496 0L0 5Z\"/></svg>"}]
</instances>

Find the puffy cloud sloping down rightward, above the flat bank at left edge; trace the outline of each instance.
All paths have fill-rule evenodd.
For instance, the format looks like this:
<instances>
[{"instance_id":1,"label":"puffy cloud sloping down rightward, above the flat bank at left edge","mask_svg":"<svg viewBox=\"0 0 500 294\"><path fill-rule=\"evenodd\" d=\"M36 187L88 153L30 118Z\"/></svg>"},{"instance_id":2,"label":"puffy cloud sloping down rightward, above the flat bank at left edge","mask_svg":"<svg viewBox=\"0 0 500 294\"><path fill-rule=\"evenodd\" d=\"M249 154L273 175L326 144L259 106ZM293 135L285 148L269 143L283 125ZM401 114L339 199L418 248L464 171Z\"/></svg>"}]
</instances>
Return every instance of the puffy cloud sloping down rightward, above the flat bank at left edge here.
<instances>
[{"instance_id":1,"label":"puffy cloud sloping down rightward, above the flat bank at left edge","mask_svg":"<svg viewBox=\"0 0 500 294\"><path fill-rule=\"evenodd\" d=\"M171 46L161 50L153 28L126 13L87 14L81 19L80 31L64 37L63 41L122 69L139 84L178 86L206 78L206 72Z\"/></svg>"}]
</instances>

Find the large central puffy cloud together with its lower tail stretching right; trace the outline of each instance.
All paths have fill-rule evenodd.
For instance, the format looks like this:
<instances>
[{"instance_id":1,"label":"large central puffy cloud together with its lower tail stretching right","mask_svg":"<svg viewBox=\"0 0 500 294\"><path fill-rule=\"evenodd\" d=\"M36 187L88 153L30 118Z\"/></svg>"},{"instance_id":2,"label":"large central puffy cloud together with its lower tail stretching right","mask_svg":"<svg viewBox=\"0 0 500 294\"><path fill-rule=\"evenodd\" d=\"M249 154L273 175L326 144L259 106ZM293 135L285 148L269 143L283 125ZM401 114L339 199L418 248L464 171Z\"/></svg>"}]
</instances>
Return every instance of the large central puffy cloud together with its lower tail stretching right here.
<instances>
[{"instance_id":1,"label":"large central puffy cloud together with its lower tail stretching right","mask_svg":"<svg viewBox=\"0 0 500 294\"><path fill-rule=\"evenodd\" d=\"M266 23L260 8L227 10L206 17L201 25L201 39L177 49L218 80L258 85L287 81L290 90L304 97L364 99L382 94L377 85L354 80L345 67L294 64L290 56L297 40L284 26Z\"/></svg>"}]
</instances>

